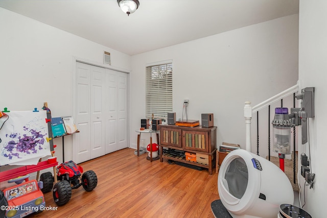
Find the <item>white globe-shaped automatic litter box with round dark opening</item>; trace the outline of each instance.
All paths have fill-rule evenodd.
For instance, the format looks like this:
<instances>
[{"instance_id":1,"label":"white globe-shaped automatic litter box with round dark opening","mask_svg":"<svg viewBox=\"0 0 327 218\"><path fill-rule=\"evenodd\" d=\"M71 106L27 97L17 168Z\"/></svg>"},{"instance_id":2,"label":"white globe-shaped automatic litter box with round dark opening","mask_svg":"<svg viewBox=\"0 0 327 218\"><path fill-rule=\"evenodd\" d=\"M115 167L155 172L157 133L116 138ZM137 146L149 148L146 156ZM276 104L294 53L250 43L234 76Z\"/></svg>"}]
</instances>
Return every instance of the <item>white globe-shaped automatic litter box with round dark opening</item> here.
<instances>
[{"instance_id":1,"label":"white globe-shaped automatic litter box with round dark opening","mask_svg":"<svg viewBox=\"0 0 327 218\"><path fill-rule=\"evenodd\" d=\"M230 215L238 218L276 218L281 204L294 201L285 173L269 160L242 149L223 160L218 193Z\"/></svg>"}]
</instances>

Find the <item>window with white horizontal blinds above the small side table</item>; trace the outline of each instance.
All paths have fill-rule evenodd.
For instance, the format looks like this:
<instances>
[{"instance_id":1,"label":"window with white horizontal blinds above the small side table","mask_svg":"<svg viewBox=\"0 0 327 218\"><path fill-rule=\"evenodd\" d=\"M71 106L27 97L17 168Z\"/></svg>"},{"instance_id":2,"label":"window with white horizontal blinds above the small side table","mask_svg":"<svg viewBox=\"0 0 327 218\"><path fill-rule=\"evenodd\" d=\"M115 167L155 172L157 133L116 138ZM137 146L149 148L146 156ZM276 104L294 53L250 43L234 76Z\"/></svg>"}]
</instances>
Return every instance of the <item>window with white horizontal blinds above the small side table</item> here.
<instances>
[{"instance_id":1,"label":"window with white horizontal blinds above the small side table","mask_svg":"<svg viewBox=\"0 0 327 218\"><path fill-rule=\"evenodd\" d=\"M167 118L173 111L173 64L147 66L146 117Z\"/></svg>"}]
</instances>

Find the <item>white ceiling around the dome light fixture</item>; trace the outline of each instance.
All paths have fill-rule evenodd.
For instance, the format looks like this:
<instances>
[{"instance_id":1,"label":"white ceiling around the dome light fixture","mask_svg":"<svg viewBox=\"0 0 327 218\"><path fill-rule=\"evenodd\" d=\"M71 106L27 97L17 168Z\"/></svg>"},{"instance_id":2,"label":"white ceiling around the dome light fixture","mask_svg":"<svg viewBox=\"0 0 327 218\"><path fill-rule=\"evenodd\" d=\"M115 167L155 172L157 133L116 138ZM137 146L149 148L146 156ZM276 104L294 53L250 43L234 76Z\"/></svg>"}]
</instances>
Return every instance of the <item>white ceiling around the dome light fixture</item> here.
<instances>
[{"instance_id":1,"label":"white ceiling around the dome light fixture","mask_svg":"<svg viewBox=\"0 0 327 218\"><path fill-rule=\"evenodd\" d=\"M299 0L139 0L127 16L116 0L0 0L0 7L128 55L298 13Z\"/></svg>"}]
</instances>

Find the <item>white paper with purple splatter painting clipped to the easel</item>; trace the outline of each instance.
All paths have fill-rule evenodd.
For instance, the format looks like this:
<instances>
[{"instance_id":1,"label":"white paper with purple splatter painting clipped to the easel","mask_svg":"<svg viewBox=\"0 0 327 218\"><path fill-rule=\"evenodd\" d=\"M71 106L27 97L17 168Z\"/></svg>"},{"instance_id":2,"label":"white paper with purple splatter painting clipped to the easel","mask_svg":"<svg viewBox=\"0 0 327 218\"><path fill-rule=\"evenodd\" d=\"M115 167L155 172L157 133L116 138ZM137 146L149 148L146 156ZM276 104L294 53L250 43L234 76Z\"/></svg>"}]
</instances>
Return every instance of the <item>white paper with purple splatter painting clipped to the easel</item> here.
<instances>
[{"instance_id":1,"label":"white paper with purple splatter painting clipped to the easel","mask_svg":"<svg viewBox=\"0 0 327 218\"><path fill-rule=\"evenodd\" d=\"M46 111L10 111L0 129L0 165L33 165L51 155Z\"/></svg>"}]
</instances>

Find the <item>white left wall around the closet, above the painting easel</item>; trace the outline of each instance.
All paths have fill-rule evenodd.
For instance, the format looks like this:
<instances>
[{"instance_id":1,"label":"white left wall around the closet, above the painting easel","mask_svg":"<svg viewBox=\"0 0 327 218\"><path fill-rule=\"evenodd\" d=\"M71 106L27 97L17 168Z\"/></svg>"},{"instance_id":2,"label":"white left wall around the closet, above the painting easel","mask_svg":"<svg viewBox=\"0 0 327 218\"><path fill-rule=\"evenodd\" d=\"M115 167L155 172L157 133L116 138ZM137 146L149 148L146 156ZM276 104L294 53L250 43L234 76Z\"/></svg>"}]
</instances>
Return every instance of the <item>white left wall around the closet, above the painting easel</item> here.
<instances>
[{"instance_id":1,"label":"white left wall around the closet, above the painting easel","mask_svg":"<svg viewBox=\"0 0 327 218\"><path fill-rule=\"evenodd\" d=\"M74 57L101 64L108 51L113 68L131 69L129 55L3 8L0 27L0 110L40 109L48 102L53 117L73 115ZM61 138L54 143L61 162ZM71 159L72 136L65 136L65 160Z\"/></svg>"}]
</instances>

